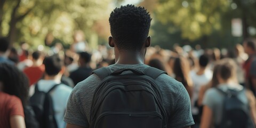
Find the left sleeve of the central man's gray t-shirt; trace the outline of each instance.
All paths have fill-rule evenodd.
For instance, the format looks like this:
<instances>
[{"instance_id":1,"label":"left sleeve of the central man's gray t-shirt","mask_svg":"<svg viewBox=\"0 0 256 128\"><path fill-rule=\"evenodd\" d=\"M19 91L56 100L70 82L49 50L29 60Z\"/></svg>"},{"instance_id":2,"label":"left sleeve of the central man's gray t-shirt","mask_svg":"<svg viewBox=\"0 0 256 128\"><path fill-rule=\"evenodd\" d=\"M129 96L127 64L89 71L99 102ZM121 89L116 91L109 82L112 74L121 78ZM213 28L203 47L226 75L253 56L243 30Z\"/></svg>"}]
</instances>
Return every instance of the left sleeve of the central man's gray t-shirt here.
<instances>
[{"instance_id":1,"label":"left sleeve of the central man's gray t-shirt","mask_svg":"<svg viewBox=\"0 0 256 128\"><path fill-rule=\"evenodd\" d=\"M80 103L81 101L77 99L76 89L74 89L69 95L64 121L69 124L89 127L87 118L80 109Z\"/></svg>"}]
</instances>

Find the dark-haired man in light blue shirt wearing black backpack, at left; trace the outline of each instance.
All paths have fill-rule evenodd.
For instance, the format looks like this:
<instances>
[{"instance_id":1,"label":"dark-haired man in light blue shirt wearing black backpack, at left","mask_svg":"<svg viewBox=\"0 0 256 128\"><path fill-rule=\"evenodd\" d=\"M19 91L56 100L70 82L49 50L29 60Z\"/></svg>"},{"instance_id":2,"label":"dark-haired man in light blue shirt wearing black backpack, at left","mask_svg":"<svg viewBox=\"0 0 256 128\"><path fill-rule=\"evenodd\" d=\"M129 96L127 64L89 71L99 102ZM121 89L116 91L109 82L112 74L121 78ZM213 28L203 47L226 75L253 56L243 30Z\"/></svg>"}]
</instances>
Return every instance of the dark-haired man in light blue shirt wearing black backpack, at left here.
<instances>
[{"instance_id":1,"label":"dark-haired man in light blue shirt wearing black backpack, at left","mask_svg":"<svg viewBox=\"0 0 256 128\"><path fill-rule=\"evenodd\" d=\"M72 88L61 83L65 71L63 61L58 54L54 54L45 57L43 64L44 78L30 87L30 106L41 127L66 127L63 116Z\"/></svg>"}]
</instances>

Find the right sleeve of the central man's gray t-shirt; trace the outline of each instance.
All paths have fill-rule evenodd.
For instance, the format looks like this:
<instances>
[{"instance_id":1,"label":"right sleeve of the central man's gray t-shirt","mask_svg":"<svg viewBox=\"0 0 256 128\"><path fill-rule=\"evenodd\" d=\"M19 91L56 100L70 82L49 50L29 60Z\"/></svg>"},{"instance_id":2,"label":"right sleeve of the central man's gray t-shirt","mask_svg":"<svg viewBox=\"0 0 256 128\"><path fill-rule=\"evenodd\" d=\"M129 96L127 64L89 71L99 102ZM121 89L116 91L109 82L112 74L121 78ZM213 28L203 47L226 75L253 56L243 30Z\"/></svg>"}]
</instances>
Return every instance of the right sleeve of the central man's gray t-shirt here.
<instances>
[{"instance_id":1,"label":"right sleeve of the central man's gray t-shirt","mask_svg":"<svg viewBox=\"0 0 256 128\"><path fill-rule=\"evenodd\" d=\"M169 127L187 127L194 123L191 104L187 90L181 84L180 89L177 90L175 98L175 106L172 117L169 119Z\"/></svg>"}]
</instances>

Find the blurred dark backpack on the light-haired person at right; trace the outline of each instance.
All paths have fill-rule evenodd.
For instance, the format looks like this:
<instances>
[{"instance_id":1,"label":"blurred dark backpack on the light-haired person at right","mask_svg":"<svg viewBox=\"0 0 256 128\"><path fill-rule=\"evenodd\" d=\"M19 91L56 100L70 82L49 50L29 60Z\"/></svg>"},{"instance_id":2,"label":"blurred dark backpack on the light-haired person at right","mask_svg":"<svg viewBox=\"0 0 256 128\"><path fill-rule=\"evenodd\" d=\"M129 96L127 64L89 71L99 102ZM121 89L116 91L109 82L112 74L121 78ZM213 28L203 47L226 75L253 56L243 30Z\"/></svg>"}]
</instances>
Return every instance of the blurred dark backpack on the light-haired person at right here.
<instances>
[{"instance_id":1,"label":"blurred dark backpack on the light-haired person at right","mask_svg":"<svg viewBox=\"0 0 256 128\"><path fill-rule=\"evenodd\" d=\"M225 99L223 100L221 123L216 127L253 128L249 104L242 102L237 97L238 94L244 93L245 89L241 91L227 90L227 92L218 88L217 90L225 95Z\"/></svg>"}]
</instances>

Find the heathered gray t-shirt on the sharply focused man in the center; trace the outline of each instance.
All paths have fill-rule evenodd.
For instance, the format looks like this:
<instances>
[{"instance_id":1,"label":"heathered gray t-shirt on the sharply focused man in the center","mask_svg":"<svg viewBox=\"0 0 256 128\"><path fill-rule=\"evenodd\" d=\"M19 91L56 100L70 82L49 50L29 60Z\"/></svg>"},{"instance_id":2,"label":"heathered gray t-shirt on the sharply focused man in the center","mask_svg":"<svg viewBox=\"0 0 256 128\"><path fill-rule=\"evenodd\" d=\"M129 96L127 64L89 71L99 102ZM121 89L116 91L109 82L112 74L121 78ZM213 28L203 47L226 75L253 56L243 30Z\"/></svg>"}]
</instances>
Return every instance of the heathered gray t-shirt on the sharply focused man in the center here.
<instances>
[{"instance_id":1,"label":"heathered gray t-shirt on the sharply focused man in the center","mask_svg":"<svg viewBox=\"0 0 256 128\"><path fill-rule=\"evenodd\" d=\"M143 71L147 65L121 65L108 66L110 71L121 68L133 68ZM70 94L64 121L69 124L89 127L90 109L95 89L101 79L93 74L78 83ZM162 93L164 107L169 117L169 127L186 127L194 124L191 115L191 106L188 92L185 87L172 77L162 74L156 78L156 84Z\"/></svg>"}]
</instances>

